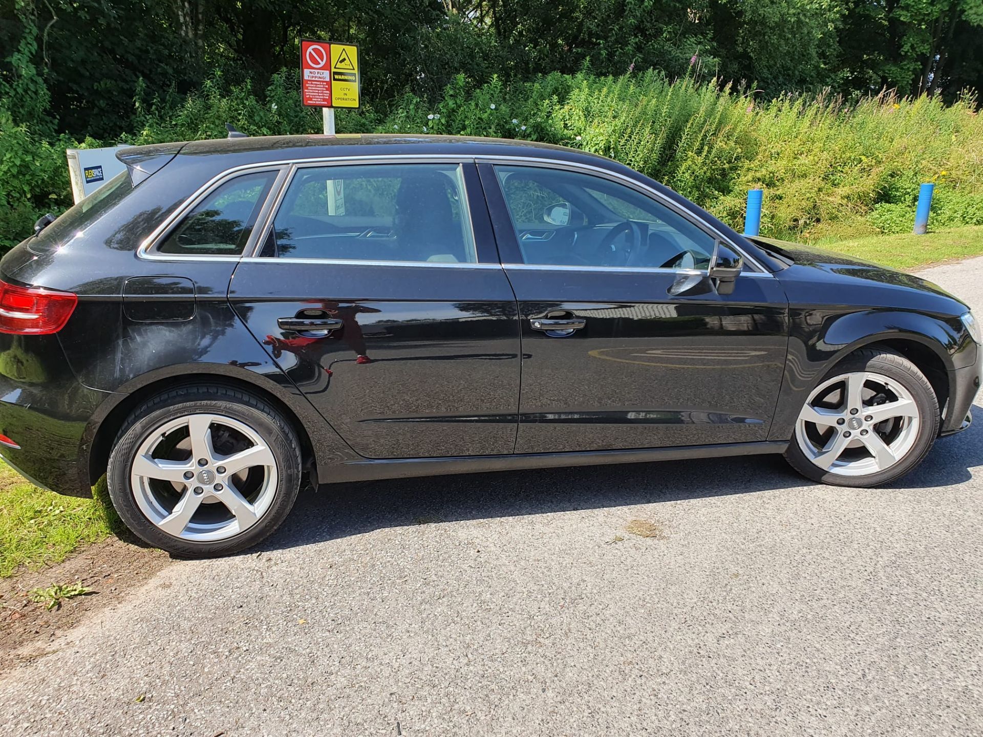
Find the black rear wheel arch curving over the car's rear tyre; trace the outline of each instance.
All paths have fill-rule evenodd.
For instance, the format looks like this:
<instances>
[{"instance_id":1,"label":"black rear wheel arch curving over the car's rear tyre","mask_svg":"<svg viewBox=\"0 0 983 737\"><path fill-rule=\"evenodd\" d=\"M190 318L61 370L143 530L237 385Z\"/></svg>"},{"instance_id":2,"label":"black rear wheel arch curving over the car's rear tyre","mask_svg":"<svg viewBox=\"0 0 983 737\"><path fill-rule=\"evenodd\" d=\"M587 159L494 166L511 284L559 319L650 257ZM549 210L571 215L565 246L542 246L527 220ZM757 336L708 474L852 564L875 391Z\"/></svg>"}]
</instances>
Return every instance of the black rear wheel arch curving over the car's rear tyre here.
<instances>
[{"instance_id":1,"label":"black rear wheel arch curving over the car's rear tyre","mask_svg":"<svg viewBox=\"0 0 983 737\"><path fill-rule=\"evenodd\" d=\"M149 371L121 387L120 392L111 395L111 398L99 407L99 411L89 422L83 436L81 456L84 462L80 464L79 473L85 478L80 481L85 485L91 485L105 473L113 440L120 427L126 422L130 413L148 398L180 386L202 384L238 388L256 395L275 407L297 433L304 467L308 470L318 469L318 463L324 460L321 458L324 452L318 443L321 438L318 436L312 438L309 424L320 421L320 418L313 417L314 410L309 405L304 406L303 403L307 403L306 399L293 395L272 379L247 369L196 364ZM320 422L326 428L326 424Z\"/></svg>"}]
</instances>

